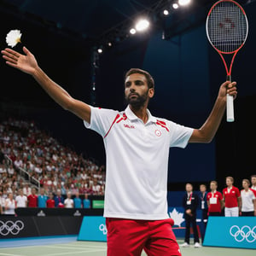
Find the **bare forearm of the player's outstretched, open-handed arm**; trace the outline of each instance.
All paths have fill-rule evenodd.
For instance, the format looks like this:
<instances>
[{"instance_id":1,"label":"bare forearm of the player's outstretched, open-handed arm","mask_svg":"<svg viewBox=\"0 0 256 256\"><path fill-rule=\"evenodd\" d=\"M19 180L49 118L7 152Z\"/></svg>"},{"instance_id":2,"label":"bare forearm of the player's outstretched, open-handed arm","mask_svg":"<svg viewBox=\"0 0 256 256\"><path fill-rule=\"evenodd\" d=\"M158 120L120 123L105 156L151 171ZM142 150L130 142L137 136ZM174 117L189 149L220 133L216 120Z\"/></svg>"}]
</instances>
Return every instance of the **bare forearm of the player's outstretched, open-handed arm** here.
<instances>
[{"instance_id":1,"label":"bare forearm of the player's outstretched, open-handed arm","mask_svg":"<svg viewBox=\"0 0 256 256\"><path fill-rule=\"evenodd\" d=\"M61 86L56 84L52 79L49 79L40 67L35 68L34 73L32 73L32 77L55 102L61 105L62 108L69 108L73 100L72 96L70 96L66 90L61 88Z\"/></svg>"}]
</instances>

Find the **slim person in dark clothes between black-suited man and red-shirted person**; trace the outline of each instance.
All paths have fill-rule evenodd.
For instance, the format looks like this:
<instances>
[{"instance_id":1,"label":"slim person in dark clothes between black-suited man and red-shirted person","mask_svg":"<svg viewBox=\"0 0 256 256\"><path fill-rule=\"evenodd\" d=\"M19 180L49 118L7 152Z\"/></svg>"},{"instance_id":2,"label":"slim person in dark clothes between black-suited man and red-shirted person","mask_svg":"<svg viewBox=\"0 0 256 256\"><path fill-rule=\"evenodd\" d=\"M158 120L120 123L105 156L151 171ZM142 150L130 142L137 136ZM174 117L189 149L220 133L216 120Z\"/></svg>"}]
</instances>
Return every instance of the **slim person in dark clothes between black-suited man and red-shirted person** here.
<instances>
[{"instance_id":1,"label":"slim person in dark clothes between black-suited man and red-shirted person","mask_svg":"<svg viewBox=\"0 0 256 256\"><path fill-rule=\"evenodd\" d=\"M204 236L207 227L207 219L208 219L208 206L207 206L207 186L205 184L200 185L199 192L199 207L201 209L201 241L204 241Z\"/></svg>"}]
</instances>

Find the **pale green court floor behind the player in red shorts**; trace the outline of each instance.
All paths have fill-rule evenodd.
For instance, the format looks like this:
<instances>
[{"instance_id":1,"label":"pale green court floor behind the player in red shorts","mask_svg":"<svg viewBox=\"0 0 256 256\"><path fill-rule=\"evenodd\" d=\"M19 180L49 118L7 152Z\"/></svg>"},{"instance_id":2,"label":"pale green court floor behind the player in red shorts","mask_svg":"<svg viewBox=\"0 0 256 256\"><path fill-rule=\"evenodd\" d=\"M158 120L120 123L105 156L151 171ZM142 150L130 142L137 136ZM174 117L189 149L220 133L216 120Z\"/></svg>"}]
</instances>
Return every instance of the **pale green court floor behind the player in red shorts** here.
<instances>
[{"instance_id":1,"label":"pale green court floor behind the player in red shorts","mask_svg":"<svg viewBox=\"0 0 256 256\"><path fill-rule=\"evenodd\" d=\"M178 240L181 244L183 241ZM224 248L224 247L190 247L181 248L183 256L255 256L256 250ZM58 255L91 255L106 256L106 242L71 241L66 243L50 243L49 245L31 245L23 247L0 248L0 256L58 256ZM142 253L143 256L146 253ZM116 255L118 256L118 255Z\"/></svg>"}]
</instances>

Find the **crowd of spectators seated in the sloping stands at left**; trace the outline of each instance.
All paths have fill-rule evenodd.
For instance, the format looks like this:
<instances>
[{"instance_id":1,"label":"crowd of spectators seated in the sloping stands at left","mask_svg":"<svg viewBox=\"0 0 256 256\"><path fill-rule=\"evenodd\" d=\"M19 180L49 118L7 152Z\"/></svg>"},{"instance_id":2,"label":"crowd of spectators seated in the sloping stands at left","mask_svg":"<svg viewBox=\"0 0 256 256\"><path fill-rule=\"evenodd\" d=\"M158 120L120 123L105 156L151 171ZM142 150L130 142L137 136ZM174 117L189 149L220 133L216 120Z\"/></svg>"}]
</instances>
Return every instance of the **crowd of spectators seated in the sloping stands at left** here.
<instances>
[{"instance_id":1,"label":"crowd of spectators seated in the sloping stands at left","mask_svg":"<svg viewBox=\"0 0 256 256\"><path fill-rule=\"evenodd\" d=\"M59 143L33 121L4 120L0 122L0 205L15 200L20 191L26 198L33 194L20 168L38 180L37 195L39 189L48 198L58 193L104 195L105 166Z\"/></svg>"}]
</instances>

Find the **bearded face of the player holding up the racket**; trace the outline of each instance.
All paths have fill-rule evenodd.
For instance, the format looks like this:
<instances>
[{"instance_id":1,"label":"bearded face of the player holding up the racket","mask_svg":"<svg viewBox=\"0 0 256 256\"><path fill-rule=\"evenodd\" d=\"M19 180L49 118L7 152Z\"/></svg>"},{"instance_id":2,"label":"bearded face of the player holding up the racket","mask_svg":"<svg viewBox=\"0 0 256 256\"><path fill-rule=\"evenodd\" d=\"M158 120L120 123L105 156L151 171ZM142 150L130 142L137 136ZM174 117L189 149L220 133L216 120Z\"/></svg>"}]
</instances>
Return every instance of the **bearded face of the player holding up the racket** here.
<instances>
[{"instance_id":1,"label":"bearded face of the player holding up the racket","mask_svg":"<svg viewBox=\"0 0 256 256\"><path fill-rule=\"evenodd\" d=\"M133 108L148 104L154 96L154 89L148 89L147 79L143 74L133 73L125 79L125 100Z\"/></svg>"}]
</instances>

